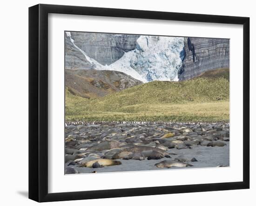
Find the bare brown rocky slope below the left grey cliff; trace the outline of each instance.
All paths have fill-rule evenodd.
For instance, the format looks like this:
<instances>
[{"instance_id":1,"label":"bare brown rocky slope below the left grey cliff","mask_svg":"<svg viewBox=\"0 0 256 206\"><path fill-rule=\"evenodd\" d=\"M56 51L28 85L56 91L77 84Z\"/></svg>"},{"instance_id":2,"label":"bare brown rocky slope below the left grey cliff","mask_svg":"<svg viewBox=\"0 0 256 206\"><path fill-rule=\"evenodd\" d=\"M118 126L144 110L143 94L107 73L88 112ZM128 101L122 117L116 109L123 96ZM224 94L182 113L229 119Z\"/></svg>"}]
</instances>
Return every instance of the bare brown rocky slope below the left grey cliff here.
<instances>
[{"instance_id":1,"label":"bare brown rocky slope below the left grey cliff","mask_svg":"<svg viewBox=\"0 0 256 206\"><path fill-rule=\"evenodd\" d=\"M65 69L65 86L77 96L85 98L103 97L141 84L125 73L106 70Z\"/></svg>"}]
</instances>

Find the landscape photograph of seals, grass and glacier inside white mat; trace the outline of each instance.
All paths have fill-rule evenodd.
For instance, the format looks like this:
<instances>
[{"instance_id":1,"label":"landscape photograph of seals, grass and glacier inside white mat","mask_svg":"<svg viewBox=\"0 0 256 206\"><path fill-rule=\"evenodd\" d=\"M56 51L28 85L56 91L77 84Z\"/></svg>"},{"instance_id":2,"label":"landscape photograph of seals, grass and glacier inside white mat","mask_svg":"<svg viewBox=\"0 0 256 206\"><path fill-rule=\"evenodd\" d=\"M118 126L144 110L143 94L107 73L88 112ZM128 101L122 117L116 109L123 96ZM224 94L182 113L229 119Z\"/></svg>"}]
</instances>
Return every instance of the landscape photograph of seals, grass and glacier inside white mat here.
<instances>
[{"instance_id":1,"label":"landscape photograph of seals, grass and glacier inside white mat","mask_svg":"<svg viewBox=\"0 0 256 206\"><path fill-rule=\"evenodd\" d=\"M229 166L229 39L64 36L65 174Z\"/></svg>"}]
</instances>

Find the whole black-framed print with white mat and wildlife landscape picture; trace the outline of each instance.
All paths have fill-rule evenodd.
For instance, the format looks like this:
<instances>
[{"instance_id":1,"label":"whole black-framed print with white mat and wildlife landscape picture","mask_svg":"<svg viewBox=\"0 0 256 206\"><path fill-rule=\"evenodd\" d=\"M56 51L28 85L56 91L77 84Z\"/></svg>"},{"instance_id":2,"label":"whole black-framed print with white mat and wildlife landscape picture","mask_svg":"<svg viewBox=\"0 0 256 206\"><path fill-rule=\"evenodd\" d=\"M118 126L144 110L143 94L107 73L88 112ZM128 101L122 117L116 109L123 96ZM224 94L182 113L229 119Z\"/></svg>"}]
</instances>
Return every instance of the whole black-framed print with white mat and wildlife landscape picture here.
<instances>
[{"instance_id":1,"label":"whole black-framed print with white mat and wildlife landscape picture","mask_svg":"<svg viewBox=\"0 0 256 206\"><path fill-rule=\"evenodd\" d=\"M249 18L29 8L30 199L246 188Z\"/></svg>"}]
</instances>

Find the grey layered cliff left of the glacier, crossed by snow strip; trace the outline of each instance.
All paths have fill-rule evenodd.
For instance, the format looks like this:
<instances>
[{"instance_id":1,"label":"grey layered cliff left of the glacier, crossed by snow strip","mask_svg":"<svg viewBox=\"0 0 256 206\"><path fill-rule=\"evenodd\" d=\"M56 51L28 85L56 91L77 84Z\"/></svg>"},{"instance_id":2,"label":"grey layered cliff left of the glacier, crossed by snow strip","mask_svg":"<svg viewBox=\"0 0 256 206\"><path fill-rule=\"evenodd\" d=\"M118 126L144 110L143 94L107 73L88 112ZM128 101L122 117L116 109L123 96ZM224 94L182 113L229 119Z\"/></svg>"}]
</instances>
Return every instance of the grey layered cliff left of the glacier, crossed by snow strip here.
<instances>
[{"instance_id":1,"label":"grey layered cliff left of the glacier, crossed by snow strip","mask_svg":"<svg viewBox=\"0 0 256 206\"><path fill-rule=\"evenodd\" d=\"M70 32L74 44L90 58L101 65L110 65L119 60L125 52L134 50L139 35ZM65 33L66 68L93 69L78 48L74 47Z\"/></svg>"}]
</instances>

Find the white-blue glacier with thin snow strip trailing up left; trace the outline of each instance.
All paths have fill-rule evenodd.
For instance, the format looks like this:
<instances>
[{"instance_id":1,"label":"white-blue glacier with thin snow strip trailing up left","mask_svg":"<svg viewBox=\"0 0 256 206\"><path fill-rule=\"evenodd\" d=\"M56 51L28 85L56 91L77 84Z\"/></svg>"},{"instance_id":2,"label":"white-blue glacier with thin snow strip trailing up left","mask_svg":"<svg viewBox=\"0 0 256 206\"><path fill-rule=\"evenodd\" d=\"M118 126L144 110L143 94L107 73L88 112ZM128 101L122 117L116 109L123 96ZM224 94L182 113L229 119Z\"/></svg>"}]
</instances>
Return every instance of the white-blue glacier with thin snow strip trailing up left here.
<instances>
[{"instance_id":1,"label":"white-blue glacier with thin snow strip trailing up left","mask_svg":"<svg viewBox=\"0 0 256 206\"><path fill-rule=\"evenodd\" d=\"M183 37L141 35L134 50L125 52L119 60L110 65L101 65L74 44L70 32L66 34L74 47L83 53L96 70L123 72L144 83L153 80L179 80L178 71L182 66L181 53L184 49Z\"/></svg>"}]
</instances>

